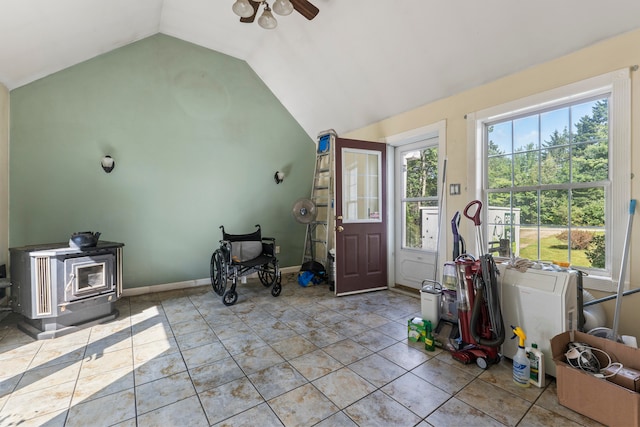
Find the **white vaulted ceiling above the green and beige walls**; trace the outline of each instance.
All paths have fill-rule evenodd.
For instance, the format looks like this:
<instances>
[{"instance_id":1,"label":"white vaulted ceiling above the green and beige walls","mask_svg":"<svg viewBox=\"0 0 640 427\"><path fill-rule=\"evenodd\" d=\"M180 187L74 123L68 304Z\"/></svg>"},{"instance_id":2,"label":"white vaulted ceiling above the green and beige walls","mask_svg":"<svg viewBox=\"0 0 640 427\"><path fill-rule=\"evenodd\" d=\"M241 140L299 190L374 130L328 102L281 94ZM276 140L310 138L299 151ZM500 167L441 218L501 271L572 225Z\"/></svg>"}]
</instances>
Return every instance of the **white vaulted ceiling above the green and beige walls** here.
<instances>
[{"instance_id":1,"label":"white vaulted ceiling above the green and beige walls","mask_svg":"<svg viewBox=\"0 0 640 427\"><path fill-rule=\"evenodd\" d=\"M307 133L339 134L640 28L640 1L311 0L241 24L234 0L0 0L10 90L158 32L244 59ZM597 60L597 58L594 58Z\"/></svg>"}]
</instances>

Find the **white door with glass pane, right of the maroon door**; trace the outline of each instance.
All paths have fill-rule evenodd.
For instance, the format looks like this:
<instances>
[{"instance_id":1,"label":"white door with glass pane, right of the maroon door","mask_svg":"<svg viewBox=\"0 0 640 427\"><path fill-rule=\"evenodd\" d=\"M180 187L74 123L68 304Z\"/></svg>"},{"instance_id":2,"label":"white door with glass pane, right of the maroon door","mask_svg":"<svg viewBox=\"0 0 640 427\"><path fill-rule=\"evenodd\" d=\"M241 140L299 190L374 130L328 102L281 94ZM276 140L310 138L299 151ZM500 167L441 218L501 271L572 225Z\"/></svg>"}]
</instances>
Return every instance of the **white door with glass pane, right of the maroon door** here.
<instances>
[{"instance_id":1,"label":"white door with glass pane, right of the maroon door","mask_svg":"<svg viewBox=\"0 0 640 427\"><path fill-rule=\"evenodd\" d=\"M438 137L395 148L395 283L420 289L435 278L439 243ZM445 236L440 236L444 239Z\"/></svg>"}]
</instances>

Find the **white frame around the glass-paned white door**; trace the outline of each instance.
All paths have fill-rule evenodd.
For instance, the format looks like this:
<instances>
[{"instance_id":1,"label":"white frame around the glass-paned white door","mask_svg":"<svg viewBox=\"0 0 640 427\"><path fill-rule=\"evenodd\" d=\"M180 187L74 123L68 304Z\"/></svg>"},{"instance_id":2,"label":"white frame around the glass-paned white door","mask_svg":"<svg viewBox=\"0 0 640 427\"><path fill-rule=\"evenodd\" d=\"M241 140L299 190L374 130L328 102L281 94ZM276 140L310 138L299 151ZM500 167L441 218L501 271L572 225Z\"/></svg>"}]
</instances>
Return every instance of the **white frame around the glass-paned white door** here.
<instances>
[{"instance_id":1,"label":"white frame around the glass-paned white door","mask_svg":"<svg viewBox=\"0 0 640 427\"><path fill-rule=\"evenodd\" d=\"M398 133L395 135L390 135L384 138L384 142L387 144L387 218L389 221L387 222L387 274L388 274L388 285L389 287L395 287L395 248L396 248L396 240L401 238L402 236L398 236L398 231L396 227L396 222L399 218L397 218L397 209L396 206L396 179L395 179L395 150L396 147L412 144L414 142L429 139L429 138L438 138L438 171L441 173L444 169L444 164L446 161L446 146L447 146L447 121L441 120L439 122L422 126L416 129L412 129L406 132ZM446 171L445 175L446 175ZM440 197L445 191L445 188L442 187L442 177L438 177L438 196ZM445 176L446 178L446 176ZM446 182L445 182L446 183ZM446 209L447 206L447 198L442 197L442 206L440 207L440 211L443 212L442 217L447 217ZM438 254L446 253L447 248L447 233L446 233L446 224L445 221L440 218L440 241L438 245ZM439 277L439 274L442 271L442 264L444 263L444 259L439 257L437 265L436 265L436 280Z\"/></svg>"}]
</instances>

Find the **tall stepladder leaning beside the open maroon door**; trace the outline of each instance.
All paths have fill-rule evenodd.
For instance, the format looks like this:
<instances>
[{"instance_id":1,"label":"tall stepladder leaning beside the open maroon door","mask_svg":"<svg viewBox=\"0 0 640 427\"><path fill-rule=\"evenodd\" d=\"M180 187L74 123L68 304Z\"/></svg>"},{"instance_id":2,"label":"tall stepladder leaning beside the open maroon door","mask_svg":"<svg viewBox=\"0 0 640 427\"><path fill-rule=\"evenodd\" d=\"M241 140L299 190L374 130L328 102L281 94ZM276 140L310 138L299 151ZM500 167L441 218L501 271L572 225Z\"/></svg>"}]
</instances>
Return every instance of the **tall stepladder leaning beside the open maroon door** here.
<instances>
[{"instance_id":1,"label":"tall stepladder leaning beside the open maroon door","mask_svg":"<svg viewBox=\"0 0 640 427\"><path fill-rule=\"evenodd\" d=\"M333 248L333 202L336 132L318 134L316 165L311 187L311 200L316 206L314 221L307 224L302 263L316 261L329 270L329 250Z\"/></svg>"}]
</instances>

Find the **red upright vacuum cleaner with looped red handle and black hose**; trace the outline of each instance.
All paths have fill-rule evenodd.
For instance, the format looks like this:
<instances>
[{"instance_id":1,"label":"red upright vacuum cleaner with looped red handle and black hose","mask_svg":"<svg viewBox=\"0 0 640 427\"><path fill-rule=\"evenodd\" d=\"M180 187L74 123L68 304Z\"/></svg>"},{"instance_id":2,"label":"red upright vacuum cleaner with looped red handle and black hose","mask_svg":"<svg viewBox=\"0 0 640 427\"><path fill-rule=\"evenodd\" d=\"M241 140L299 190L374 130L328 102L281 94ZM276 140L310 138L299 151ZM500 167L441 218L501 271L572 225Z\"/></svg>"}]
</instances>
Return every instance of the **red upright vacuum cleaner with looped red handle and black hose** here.
<instances>
[{"instance_id":1,"label":"red upright vacuum cleaner with looped red handle and black hose","mask_svg":"<svg viewBox=\"0 0 640 427\"><path fill-rule=\"evenodd\" d=\"M470 210L476 210L470 214ZM476 245L484 250L480 212L482 202L474 200L464 209L464 215L476 225ZM497 267L491 254L479 259L463 254L456 259L458 270L459 350L452 357L464 364L476 362L482 368L500 361L500 346L505 339L504 322L500 310Z\"/></svg>"}]
</instances>

